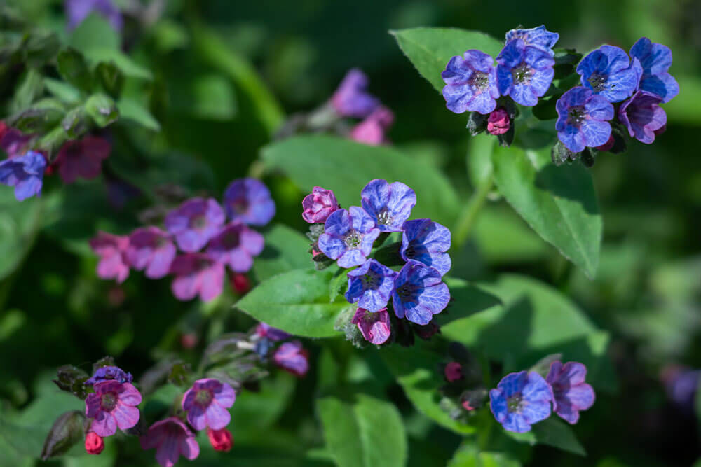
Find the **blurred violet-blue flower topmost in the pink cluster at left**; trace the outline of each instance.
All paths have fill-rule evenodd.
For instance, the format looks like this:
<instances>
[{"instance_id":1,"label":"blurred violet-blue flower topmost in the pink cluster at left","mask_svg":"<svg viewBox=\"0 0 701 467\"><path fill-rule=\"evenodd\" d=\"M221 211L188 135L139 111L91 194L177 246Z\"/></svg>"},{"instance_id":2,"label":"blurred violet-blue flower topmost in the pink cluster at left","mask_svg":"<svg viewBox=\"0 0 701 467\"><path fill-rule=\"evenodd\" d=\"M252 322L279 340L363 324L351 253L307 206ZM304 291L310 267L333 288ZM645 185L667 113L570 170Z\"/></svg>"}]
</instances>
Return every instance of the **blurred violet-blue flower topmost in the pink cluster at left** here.
<instances>
[{"instance_id":1,"label":"blurred violet-blue flower topmost in the pink cluster at left","mask_svg":"<svg viewBox=\"0 0 701 467\"><path fill-rule=\"evenodd\" d=\"M224 208L232 221L248 225L266 225L275 216L270 190L257 179L232 181L224 191Z\"/></svg>"}]
</instances>

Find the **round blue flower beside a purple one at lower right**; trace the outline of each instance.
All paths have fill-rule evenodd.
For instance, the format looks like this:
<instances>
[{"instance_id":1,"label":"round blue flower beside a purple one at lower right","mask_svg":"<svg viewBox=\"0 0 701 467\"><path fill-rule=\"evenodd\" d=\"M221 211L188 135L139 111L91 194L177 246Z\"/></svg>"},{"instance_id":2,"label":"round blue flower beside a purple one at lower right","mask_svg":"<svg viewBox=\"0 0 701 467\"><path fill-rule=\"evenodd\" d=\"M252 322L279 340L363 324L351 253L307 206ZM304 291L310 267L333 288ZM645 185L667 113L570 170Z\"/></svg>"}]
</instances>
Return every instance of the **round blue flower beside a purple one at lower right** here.
<instances>
[{"instance_id":1,"label":"round blue flower beside a purple one at lower right","mask_svg":"<svg viewBox=\"0 0 701 467\"><path fill-rule=\"evenodd\" d=\"M552 391L537 372L510 373L489 391L491 413L507 431L525 433L550 417Z\"/></svg>"}]
</instances>

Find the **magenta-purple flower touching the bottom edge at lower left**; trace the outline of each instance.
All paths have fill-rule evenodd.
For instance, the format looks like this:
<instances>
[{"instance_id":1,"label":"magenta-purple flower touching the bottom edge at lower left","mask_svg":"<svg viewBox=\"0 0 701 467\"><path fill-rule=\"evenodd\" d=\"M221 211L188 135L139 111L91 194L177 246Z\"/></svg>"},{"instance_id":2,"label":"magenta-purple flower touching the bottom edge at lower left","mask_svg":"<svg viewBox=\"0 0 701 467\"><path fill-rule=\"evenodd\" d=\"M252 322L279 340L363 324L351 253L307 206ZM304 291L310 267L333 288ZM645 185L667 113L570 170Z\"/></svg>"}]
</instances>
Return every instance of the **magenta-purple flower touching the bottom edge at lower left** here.
<instances>
[{"instance_id":1,"label":"magenta-purple flower touching the bottom edge at lower left","mask_svg":"<svg viewBox=\"0 0 701 467\"><path fill-rule=\"evenodd\" d=\"M144 450L156 449L156 461L162 467L174 466L180 456L192 461L200 455L194 433L177 417L156 421L139 441Z\"/></svg>"}]
</instances>

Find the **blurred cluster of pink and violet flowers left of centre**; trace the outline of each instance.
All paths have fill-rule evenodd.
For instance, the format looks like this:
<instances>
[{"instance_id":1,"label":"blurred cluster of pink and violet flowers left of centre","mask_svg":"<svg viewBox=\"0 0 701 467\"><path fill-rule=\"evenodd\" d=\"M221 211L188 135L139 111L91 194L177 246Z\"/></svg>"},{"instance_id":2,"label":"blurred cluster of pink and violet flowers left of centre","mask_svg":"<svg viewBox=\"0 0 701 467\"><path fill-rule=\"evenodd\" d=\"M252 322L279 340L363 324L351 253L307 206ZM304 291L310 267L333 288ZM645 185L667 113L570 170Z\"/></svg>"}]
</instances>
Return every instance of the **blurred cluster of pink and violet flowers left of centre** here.
<instances>
[{"instance_id":1,"label":"blurred cluster of pink and violet flowers left of centre","mask_svg":"<svg viewBox=\"0 0 701 467\"><path fill-rule=\"evenodd\" d=\"M275 215L270 191L256 179L238 179L224 191L222 207L213 198L194 197L165 216L163 230L149 225L128 236L100 232L90 246L100 256L97 276L123 282L130 268L149 279L172 274L178 300L199 295L208 301L222 293L226 267L238 276L263 251L263 236L250 225L266 225Z\"/></svg>"}]
</instances>

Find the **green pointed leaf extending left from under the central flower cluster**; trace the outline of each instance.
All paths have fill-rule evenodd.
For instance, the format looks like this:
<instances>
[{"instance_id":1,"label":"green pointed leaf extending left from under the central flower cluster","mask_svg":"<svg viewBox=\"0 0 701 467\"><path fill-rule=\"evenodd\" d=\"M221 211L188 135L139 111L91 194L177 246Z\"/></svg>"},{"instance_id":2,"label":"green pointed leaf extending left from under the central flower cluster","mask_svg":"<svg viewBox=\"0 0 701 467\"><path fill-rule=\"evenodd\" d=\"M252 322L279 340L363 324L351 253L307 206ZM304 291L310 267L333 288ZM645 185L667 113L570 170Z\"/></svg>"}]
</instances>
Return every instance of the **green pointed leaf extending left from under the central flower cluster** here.
<instances>
[{"instance_id":1,"label":"green pointed leaf extending left from under the central flower cluster","mask_svg":"<svg viewBox=\"0 0 701 467\"><path fill-rule=\"evenodd\" d=\"M292 270L262 282L236 308L259 321L302 337L333 337L336 317L347 302L329 303L332 273Z\"/></svg>"}]
</instances>

